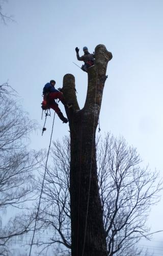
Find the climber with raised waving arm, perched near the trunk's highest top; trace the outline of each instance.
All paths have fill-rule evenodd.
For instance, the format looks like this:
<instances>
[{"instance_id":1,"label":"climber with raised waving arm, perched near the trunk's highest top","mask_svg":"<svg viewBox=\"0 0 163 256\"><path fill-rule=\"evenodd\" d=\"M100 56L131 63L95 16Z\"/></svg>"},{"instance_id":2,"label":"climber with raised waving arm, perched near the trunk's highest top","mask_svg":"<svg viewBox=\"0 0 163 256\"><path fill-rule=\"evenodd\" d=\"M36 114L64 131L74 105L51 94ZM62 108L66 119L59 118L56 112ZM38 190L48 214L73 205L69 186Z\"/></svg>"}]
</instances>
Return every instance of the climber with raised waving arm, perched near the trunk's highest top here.
<instances>
[{"instance_id":1,"label":"climber with raised waving arm, perched near the trunk's highest top","mask_svg":"<svg viewBox=\"0 0 163 256\"><path fill-rule=\"evenodd\" d=\"M88 48L86 46L83 47L84 55L82 55L81 57L79 56L79 49L77 47L75 48L75 51L77 59L83 60L85 62L85 64L81 68L83 71L87 72L90 67L94 66L95 55L89 53Z\"/></svg>"}]
</instances>

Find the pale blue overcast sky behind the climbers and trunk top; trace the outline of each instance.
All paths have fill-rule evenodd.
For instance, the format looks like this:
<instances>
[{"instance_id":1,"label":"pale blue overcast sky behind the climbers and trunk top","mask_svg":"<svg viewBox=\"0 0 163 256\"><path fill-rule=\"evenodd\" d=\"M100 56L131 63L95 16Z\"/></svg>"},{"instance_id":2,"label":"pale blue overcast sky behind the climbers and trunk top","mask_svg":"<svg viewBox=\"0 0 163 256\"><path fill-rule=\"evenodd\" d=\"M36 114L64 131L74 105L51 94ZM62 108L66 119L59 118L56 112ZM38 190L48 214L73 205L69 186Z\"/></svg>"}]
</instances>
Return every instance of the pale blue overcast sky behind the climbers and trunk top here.
<instances>
[{"instance_id":1,"label":"pale blue overcast sky behind the climbers and trunk top","mask_svg":"<svg viewBox=\"0 0 163 256\"><path fill-rule=\"evenodd\" d=\"M0 2L2 4L2 2ZM0 83L6 81L18 92L23 109L40 128L42 89L56 80L62 87L63 76L75 76L77 99L83 108L87 93L87 74L72 62L75 47L83 54L87 46L92 53L98 44L113 54L108 62L100 112L101 136L111 132L122 135L137 147L144 165L160 170L163 176L163 1L162 0L9 0L3 11L15 22L0 23ZM60 108L65 114L63 105ZM36 150L48 148L52 117L47 131L41 129L31 138ZM68 124L56 117L53 140L69 135ZM163 194L163 193L162 193ZM163 198L151 210L151 231L163 230ZM154 255L162 255L163 233L153 236ZM159 250L158 250L159 248Z\"/></svg>"}]
</instances>

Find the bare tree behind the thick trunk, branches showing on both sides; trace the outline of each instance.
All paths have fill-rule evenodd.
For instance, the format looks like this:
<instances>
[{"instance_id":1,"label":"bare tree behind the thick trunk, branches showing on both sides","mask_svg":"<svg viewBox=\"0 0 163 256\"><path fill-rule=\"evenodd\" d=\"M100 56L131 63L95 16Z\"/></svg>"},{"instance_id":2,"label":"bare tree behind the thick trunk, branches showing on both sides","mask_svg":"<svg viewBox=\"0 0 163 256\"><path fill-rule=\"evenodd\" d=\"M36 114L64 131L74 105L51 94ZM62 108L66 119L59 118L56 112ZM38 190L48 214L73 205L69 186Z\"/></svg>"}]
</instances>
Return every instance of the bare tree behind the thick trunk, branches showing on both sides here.
<instances>
[{"instance_id":1,"label":"bare tree behind the thick trunk, branches showing on both sides","mask_svg":"<svg viewBox=\"0 0 163 256\"><path fill-rule=\"evenodd\" d=\"M142 237L149 238L146 220L150 206L158 202L162 181L157 172L141 166L137 150L128 146L123 138L107 134L104 140L97 141L98 184L107 255L141 255L137 245ZM63 142L53 142L51 155L53 165L47 170L38 218L40 232L46 230L48 239L38 238L35 244L42 253L48 247L55 251L60 245L58 255L71 255L69 139L64 137ZM39 184L40 180L38 190Z\"/></svg>"}]
</instances>

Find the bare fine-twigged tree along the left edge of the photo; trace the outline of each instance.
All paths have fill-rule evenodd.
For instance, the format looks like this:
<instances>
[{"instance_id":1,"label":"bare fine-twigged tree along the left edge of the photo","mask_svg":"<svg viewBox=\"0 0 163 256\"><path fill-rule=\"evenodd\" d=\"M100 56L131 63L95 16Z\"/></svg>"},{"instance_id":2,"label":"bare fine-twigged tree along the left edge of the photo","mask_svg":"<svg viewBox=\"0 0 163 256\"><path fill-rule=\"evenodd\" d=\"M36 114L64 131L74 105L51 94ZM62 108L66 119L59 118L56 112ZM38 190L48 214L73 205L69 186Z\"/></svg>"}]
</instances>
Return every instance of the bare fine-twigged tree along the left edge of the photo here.
<instances>
[{"instance_id":1,"label":"bare fine-twigged tree along the left edge of the photo","mask_svg":"<svg viewBox=\"0 0 163 256\"><path fill-rule=\"evenodd\" d=\"M20 215L26 202L34 199L34 171L42 161L41 152L28 150L30 132L36 129L28 114L12 97L15 91L0 87L0 254L8 255L9 242L30 230L31 219ZM7 221L8 219L8 221Z\"/></svg>"}]
</instances>

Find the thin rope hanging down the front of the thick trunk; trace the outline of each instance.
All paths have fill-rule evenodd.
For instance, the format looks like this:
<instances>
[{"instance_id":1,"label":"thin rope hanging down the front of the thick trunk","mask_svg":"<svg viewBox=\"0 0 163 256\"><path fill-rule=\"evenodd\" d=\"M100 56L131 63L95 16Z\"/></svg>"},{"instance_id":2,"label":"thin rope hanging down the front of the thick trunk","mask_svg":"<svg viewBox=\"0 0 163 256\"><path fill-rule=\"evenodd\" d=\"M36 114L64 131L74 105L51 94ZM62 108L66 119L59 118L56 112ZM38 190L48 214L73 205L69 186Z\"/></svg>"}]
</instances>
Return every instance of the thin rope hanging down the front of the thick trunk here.
<instances>
[{"instance_id":1,"label":"thin rope hanging down the front of the thick trunk","mask_svg":"<svg viewBox=\"0 0 163 256\"><path fill-rule=\"evenodd\" d=\"M97 70L96 70L96 72L97 72ZM97 72L97 74L98 74L98 72ZM96 74L95 106L96 106L96 96L97 96L97 74ZM94 108L93 135L92 135L92 152L91 152L91 167L90 167L90 179L89 179L89 189L88 189L88 202L87 202L87 213L86 213L86 225L85 225L85 234L84 234L84 244L83 244L82 256L84 255L85 243L86 243L86 230L87 230L88 207L89 207L89 199L90 199L91 174L92 174L92 158L93 158L94 132L95 132L95 108Z\"/></svg>"}]
</instances>

